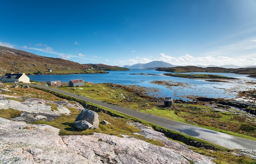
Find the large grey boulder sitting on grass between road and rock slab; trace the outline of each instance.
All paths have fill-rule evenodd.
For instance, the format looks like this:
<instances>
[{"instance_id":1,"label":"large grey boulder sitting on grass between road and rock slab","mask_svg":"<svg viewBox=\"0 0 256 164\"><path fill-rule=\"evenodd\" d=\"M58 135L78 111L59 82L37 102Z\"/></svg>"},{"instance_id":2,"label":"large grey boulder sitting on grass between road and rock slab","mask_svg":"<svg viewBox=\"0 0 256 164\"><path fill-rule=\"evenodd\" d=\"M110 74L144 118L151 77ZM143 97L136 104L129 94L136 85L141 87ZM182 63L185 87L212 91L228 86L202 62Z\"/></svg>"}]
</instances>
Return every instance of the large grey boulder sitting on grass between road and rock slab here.
<instances>
[{"instance_id":1,"label":"large grey boulder sitting on grass between road and rock slab","mask_svg":"<svg viewBox=\"0 0 256 164\"><path fill-rule=\"evenodd\" d=\"M96 112L84 109L76 117L74 125L79 130L97 129L99 127L99 116Z\"/></svg>"}]
</instances>

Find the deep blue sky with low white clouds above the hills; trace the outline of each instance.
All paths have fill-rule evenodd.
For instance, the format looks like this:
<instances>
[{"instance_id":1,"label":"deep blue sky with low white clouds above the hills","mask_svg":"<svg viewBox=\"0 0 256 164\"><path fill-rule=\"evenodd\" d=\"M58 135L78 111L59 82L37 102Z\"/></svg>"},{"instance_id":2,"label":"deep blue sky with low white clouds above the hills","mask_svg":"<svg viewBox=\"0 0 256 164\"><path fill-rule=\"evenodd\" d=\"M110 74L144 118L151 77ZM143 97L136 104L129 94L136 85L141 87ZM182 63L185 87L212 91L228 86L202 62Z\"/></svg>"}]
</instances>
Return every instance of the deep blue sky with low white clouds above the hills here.
<instances>
[{"instance_id":1,"label":"deep blue sky with low white clouds above the hills","mask_svg":"<svg viewBox=\"0 0 256 164\"><path fill-rule=\"evenodd\" d=\"M78 63L256 65L256 0L1 0L0 45Z\"/></svg>"}]
</instances>

